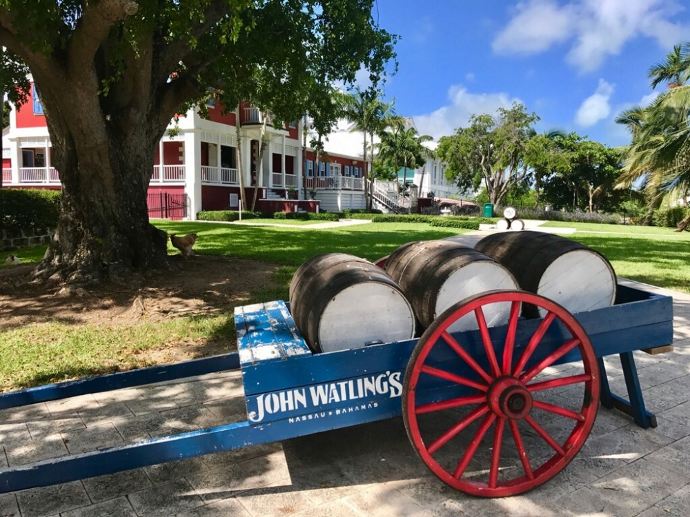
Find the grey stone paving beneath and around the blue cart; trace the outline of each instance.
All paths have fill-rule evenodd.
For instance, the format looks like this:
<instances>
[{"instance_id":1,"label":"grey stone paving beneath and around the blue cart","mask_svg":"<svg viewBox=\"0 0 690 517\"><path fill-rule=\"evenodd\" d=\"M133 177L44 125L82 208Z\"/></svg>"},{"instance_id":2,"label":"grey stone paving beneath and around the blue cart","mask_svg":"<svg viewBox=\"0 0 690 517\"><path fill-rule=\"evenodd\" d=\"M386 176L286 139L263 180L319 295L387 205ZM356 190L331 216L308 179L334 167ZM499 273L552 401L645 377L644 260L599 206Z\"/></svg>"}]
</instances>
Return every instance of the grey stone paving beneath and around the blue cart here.
<instances>
[{"instance_id":1,"label":"grey stone paving beneath and around the blue cart","mask_svg":"<svg viewBox=\"0 0 690 517\"><path fill-rule=\"evenodd\" d=\"M522 496L484 500L446 488L415 456L398 418L0 494L0 517L687 517L690 296L671 294L675 351L635 356L658 427L600 409L573 463ZM608 363L620 389L620 365ZM234 373L6 409L0 468L245 419Z\"/></svg>"}]
</instances>

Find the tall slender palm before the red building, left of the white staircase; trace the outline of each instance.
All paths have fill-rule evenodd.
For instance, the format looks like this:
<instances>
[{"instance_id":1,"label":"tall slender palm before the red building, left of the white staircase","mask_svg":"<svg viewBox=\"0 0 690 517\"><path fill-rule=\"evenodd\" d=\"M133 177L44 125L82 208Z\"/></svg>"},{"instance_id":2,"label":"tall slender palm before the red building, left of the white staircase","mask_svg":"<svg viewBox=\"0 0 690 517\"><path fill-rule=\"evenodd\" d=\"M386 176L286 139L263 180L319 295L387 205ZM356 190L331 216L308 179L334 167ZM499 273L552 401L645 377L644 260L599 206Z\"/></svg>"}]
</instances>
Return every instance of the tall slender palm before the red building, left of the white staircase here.
<instances>
[{"instance_id":1,"label":"tall slender palm before the red building, left of the white staircase","mask_svg":"<svg viewBox=\"0 0 690 517\"><path fill-rule=\"evenodd\" d=\"M354 93L339 92L335 94L336 102L344 119L353 125L351 132L362 132L362 161L364 161L363 176L368 176L367 160L367 136L373 143L375 134L382 132L390 126L399 126L404 123L401 116L395 114L393 103L384 103L381 100L381 92L363 92L359 88ZM373 167L373 160L372 160ZM368 209L371 210L371 195L368 192L368 183L364 182L364 196L367 199Z\"/></svg>"}]
</instances>

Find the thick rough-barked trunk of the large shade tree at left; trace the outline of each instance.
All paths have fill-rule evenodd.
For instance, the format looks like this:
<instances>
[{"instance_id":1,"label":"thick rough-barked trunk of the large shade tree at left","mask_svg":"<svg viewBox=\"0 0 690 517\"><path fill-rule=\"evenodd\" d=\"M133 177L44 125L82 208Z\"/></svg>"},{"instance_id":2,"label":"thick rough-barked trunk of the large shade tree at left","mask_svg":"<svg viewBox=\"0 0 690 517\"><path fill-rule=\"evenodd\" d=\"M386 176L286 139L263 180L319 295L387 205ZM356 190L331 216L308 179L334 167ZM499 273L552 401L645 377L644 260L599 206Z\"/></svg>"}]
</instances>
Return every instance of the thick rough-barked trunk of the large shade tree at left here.
<instances>
[{"instance_id":1,"label":"thick rough-barked trunk of the large shade tree at left","mask_svg":"<svg viewBox=\"0 0 690 517\"><path fill-rule=\"evenodd\" d=\"M152 96L136 90L136 84L104 97L88 70L70 78L69 94L57 70L35 70L34 80L62 183L57 231L35 274L78 283L129 283L137 279L133 273L168 267L167 236L148 222L146 194L155 146L178 103L157 112Z\"/></svg>"}]
</instances>

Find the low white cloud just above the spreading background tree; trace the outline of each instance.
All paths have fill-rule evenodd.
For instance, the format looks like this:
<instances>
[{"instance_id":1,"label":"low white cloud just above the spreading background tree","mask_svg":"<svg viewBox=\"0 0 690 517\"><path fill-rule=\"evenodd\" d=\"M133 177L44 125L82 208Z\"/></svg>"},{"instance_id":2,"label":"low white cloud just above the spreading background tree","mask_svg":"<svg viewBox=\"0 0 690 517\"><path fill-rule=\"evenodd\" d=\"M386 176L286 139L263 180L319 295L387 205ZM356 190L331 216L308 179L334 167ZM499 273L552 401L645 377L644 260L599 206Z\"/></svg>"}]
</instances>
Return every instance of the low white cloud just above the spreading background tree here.
<instances>
[{"instance_id":1,"label":"low white cloud just above the spreading background tree","mask_svg":"<svg viewBox=\"0 0 690 517\"><path fill-rule=\"evenodd\" d=\"M449 88L451 103L429 114L415 115L415 125L420 134L429 134L435 140L449 136L455 129L467 125L470 116L482 113L493 114L497 108L510 108L513 102L520 102L506 93L470 93L464 86Z\"/></svg>"}]
</instances>

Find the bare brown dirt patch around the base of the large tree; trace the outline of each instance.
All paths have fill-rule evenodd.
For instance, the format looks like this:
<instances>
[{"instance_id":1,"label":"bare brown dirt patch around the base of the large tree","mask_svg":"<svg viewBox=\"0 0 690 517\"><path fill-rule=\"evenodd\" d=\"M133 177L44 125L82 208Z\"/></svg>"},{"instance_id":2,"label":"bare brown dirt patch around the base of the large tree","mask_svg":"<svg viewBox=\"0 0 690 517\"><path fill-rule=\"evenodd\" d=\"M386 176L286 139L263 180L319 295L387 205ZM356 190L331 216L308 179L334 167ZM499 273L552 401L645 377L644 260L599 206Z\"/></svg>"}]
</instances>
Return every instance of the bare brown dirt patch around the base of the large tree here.
<instances>
[{"instance_id":1,"label":"bare brown dirt patch around the base of the large tree","mask_svg":"<svg viewBox=\"0 0 690 517\"><path fill-rule=\"evenodd\" d=\"M272 280L277 266L248 259L171 256L172 269L133 278L132 285L67 287L31 280L34 265L0 268L0 332L23 325L63 322L75 325L143 325L194 315L232 314ZM235 347L235 336L204 343L204 355ZM146 352L147 363L184 361L199 356L190 343Z\"/></svg>"}]
</instances>

